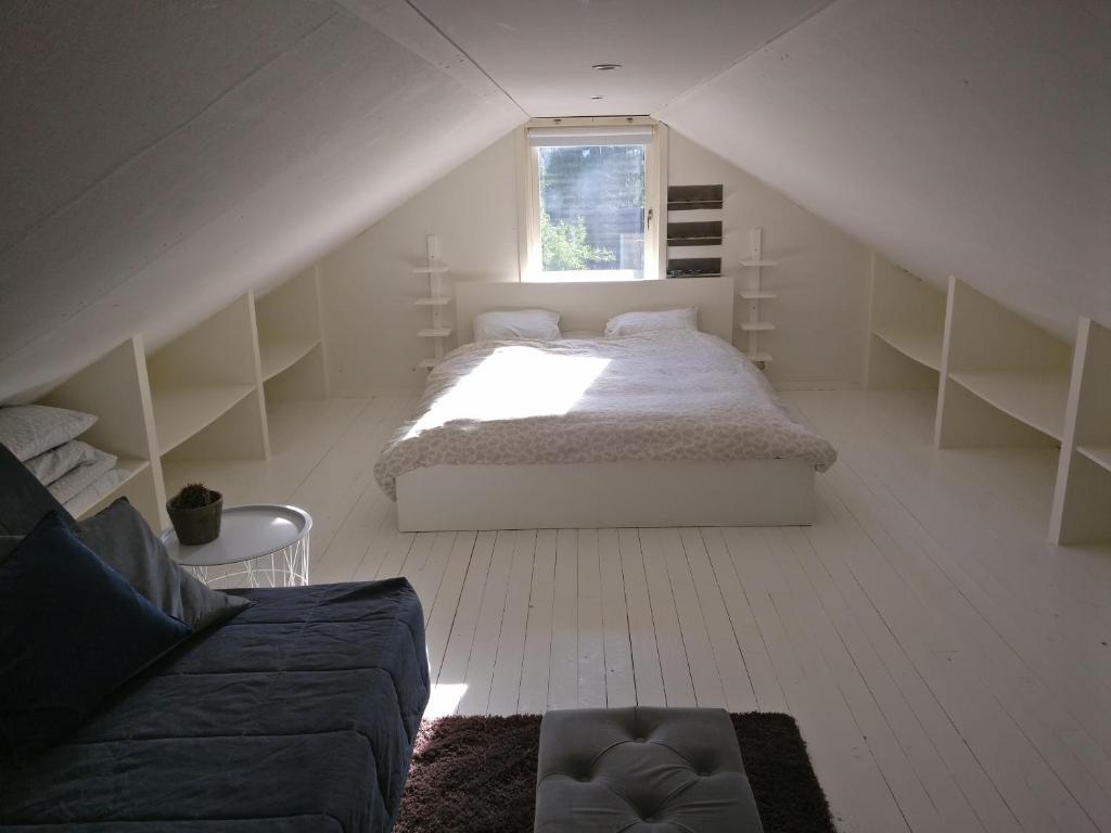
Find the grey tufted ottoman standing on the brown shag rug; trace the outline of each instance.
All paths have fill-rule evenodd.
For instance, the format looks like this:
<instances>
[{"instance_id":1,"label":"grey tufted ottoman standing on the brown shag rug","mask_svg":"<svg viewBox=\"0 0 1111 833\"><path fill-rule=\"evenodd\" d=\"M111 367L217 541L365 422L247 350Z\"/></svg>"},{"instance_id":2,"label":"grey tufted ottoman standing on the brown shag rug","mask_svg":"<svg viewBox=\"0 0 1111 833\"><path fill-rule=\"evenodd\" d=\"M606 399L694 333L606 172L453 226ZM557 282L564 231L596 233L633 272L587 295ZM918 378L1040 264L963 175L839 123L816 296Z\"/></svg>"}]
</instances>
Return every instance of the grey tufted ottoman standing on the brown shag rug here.
<instances>
[{"instance_id":1,"label":"grey tufted ottoman standing on the brown shag rug","mask_svg":"<svg viewBox=\"0 0 1111 833\"><path fill-rule=\"evenodd\" d=\"M540 725L536 833L761 833L720 709L572 709Z\"/></svg>"}]
</instances>

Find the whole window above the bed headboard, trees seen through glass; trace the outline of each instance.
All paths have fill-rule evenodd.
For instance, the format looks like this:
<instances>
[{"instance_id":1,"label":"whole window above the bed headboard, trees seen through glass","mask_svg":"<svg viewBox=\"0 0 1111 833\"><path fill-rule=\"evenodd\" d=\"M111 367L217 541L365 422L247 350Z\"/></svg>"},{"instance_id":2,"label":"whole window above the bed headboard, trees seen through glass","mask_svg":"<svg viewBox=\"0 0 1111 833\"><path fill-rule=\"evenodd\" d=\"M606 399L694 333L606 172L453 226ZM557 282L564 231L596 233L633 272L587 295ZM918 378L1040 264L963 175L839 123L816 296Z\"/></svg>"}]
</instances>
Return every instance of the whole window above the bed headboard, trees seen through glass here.
<instances>
[{"instance_id":1,"label":"whole window above the bed headboard, trees seen through glass","mask_svg":"<svg viewBox=\"0 0 1111 833\"><path fill-rule=\"evenodd\" d=\"M659 277L657 126L557 121L524 131L521 279Z\"/></svg>"}]
</instances>

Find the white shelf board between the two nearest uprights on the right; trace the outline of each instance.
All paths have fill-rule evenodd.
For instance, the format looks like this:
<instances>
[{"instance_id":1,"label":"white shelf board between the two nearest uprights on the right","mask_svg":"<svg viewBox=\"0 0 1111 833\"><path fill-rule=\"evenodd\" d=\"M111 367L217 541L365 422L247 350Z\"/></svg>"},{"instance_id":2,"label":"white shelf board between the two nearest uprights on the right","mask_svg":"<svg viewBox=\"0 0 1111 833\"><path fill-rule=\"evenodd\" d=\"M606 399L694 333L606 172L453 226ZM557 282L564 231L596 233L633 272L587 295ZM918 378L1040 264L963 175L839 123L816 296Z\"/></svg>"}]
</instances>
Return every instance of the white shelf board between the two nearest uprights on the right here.
<instances>
[{"instance_id":1,"label":"white shelf board between the two nearest uprights on the right","mask_svg":"<svg viewBox=\"0 0 1111 833\"><path fill-rule=\"evenodd\" d=\"M1068 370L959 370L949 378L1019 422L1058 441L1064 435Z\"/></svg>"}]
</instances>

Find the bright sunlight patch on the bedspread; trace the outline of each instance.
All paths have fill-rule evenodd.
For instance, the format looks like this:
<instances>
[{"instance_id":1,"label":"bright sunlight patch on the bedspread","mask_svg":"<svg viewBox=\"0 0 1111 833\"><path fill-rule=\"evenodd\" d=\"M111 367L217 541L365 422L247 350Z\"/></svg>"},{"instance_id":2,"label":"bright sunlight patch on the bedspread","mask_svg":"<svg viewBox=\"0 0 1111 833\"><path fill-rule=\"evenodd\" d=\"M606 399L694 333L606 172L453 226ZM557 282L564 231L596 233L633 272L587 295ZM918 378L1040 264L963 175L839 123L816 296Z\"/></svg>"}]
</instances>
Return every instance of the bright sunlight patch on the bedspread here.
<instances>
[{"instance_id":1,"label":"bright sunlight patch on the bedspread","mask_svg":"<svg viewBox=\"0 0 1111 833\"><path fill-rule=\"evenodd\" d=\"M440 397L407 439L453 420L564 414L609 363L609 359L589 355L552 355L523 344L498 348Z\"/></svg>"}]
</instances>

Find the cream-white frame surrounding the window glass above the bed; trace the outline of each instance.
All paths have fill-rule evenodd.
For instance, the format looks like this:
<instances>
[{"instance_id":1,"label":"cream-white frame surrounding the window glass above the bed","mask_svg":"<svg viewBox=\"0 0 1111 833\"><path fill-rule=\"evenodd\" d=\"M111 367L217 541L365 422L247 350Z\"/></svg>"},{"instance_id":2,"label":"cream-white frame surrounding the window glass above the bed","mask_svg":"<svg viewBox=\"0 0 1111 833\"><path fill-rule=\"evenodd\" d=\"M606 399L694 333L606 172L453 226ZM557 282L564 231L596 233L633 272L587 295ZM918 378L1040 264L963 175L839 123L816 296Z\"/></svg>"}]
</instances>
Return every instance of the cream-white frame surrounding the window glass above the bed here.
<instances>
[{"instance_id":1,"label":"cream-white frame surrounding the window glass above the bed","mask_svg":"<svg viewBox=\"0 0 1111 833\"><path fill-rule=\"evenodd\" d=\"M644 165L644 269L642 279L665 277L667 247L661 228L667 223L662 198L668 190L668 128L644 116L592 117L567 119L532 119L517 131L517 210L519 280L571 282L633 280L628 270L594 269L581 272L544 272L540 252L540 171L538 154L529 147L531 128L599 128L649 127L652 139L648 144Z\"/></svg>"}]
</instances>

